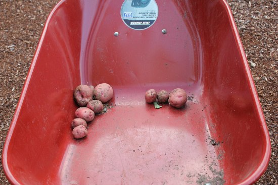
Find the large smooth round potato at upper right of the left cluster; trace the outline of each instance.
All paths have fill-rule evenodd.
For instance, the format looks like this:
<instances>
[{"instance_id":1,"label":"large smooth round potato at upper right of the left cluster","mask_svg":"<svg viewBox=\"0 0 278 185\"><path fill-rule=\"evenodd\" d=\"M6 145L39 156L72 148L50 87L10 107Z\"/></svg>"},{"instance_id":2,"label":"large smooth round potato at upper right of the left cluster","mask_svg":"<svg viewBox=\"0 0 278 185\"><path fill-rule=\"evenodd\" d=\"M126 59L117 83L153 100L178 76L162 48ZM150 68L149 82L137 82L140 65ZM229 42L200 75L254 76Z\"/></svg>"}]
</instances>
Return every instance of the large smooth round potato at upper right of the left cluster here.
<instances>
[{"instance_id":1,"label":"large smooth round potato at upper right of the left cluster","mask_svg":"<svg viewBox=\"0 0 278 185\"><path fill-rule=\"evenodd\" d=\"M95 87L94 95L96 100L106 103L113 97L113 88L106 83L99 84Z\"/></svg>"}]
</instances>

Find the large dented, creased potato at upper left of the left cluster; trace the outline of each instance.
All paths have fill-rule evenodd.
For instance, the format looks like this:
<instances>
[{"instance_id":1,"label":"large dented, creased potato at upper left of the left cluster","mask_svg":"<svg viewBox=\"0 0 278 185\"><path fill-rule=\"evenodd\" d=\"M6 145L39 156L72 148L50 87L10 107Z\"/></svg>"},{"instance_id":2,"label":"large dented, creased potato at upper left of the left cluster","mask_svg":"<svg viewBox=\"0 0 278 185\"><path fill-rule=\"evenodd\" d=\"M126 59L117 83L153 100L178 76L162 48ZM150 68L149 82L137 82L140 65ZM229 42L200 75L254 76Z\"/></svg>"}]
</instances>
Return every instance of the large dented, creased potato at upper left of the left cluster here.
<instances>
[{"instance_id":1,"label":"large dented, creased potato at upper left of the left cluster","mask_svg":"<svg viewBox=\"0 0 278 185\"><path fill-rule=\"evenodd\" d=\"M77 86L74 91L74 99L79 106L86 106L92 100L92 89L87 85Z\"/></svg>"}]
</instances>

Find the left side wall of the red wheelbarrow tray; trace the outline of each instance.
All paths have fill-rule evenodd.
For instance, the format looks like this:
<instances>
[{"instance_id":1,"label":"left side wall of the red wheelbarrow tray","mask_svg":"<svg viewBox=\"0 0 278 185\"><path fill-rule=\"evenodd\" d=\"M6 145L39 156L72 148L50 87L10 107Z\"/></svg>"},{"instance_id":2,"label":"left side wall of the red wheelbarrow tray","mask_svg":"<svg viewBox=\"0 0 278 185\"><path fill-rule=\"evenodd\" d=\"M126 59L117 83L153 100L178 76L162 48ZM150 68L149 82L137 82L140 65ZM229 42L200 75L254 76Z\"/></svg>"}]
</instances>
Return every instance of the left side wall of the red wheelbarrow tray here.
<instances>
[{"instance_id":1,"label":"left side wall of the red wheelbarrow tray","mask_svg":"<svg viewBox=\"0 0 278 185\"><path fill-rule=\"evenodd\" d=\"M73 89L80 84L78 2L60 3L45 24L5 144L4 169L12 184L59 181L60 161L72 140Z\"/></svg>"}]
</instances>

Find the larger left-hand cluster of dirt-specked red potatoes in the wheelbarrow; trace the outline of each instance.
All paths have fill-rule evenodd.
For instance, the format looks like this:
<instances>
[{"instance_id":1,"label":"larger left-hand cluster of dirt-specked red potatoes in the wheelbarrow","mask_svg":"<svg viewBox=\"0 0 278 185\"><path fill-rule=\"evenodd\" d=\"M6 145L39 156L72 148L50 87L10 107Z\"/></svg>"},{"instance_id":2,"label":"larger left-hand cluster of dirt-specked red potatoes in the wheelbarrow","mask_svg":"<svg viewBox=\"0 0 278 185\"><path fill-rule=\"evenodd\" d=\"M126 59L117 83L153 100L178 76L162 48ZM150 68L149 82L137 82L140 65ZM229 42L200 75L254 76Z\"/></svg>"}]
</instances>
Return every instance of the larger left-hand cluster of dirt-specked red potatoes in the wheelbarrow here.
<instances>
[{"instance_id":1,"label":"larger left-hand cluster of dirt-specked red potatoes in the wheelbarrow","mask_svg":"<svg viewBox=\"0 0 278 185\"><path fill-rule=\"evenodd\" d=\"M111 85L103 83L94 86L79 85L74 91L74 99L80 106L75 111L75 119L72 120L72 135L75 139L87 136L87 122L95 118L96 113L103 110L103 103L108 102L113 97Z\"/></svg>"}]
</instances>

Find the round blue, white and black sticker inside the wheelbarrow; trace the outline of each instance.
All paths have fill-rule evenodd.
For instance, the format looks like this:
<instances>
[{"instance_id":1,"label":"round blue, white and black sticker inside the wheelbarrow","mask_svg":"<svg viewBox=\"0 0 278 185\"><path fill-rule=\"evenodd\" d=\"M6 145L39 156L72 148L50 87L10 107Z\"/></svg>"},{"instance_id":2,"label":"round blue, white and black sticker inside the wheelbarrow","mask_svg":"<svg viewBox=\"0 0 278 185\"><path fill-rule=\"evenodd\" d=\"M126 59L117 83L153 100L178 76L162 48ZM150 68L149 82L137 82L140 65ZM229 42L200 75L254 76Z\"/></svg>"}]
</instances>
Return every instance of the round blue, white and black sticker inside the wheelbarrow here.
<instances>
[{"instance_id":1,"label":"round blue, white and black sticker inside the wheelbarrow","mask_svg":"<svg viewBox=\"0 0 278 185\"><path fill-rule=\"evenodd\" d=\"M158 17L155 0L125 0L121 8L123 22L134 30L151 27Z\"/></svg>"}]
</instances>

